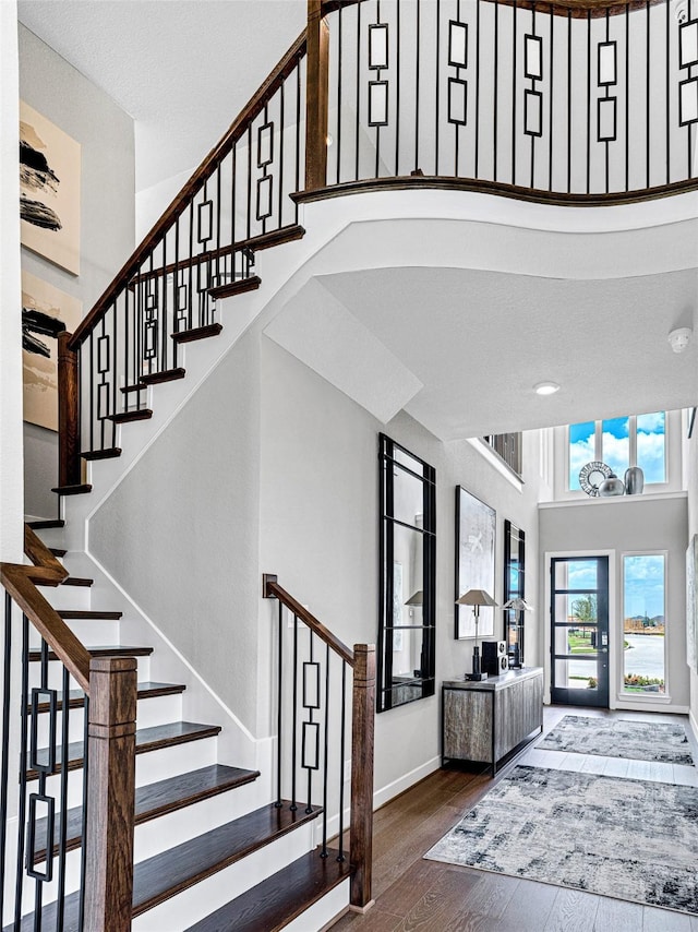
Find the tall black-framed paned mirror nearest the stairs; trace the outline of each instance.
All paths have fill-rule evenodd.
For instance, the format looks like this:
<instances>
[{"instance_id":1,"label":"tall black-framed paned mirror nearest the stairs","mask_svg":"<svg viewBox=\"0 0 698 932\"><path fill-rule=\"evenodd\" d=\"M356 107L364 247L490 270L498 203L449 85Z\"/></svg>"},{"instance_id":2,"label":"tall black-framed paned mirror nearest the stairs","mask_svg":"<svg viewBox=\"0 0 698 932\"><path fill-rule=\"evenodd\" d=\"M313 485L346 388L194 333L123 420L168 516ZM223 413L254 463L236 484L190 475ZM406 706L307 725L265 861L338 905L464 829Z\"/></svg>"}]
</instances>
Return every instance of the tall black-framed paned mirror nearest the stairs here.
<instances>
[{"instance_id":1,"label":"tall black-framed paned mirror nearest the stairs","mask_svg":"<svg viewBox=\"0 0 698 932\"><path fill-rule=\"evenodd\" d=\"M378 712L434 695L436 486L433 466L380 435Z\"/></svg>"}]
</instances>

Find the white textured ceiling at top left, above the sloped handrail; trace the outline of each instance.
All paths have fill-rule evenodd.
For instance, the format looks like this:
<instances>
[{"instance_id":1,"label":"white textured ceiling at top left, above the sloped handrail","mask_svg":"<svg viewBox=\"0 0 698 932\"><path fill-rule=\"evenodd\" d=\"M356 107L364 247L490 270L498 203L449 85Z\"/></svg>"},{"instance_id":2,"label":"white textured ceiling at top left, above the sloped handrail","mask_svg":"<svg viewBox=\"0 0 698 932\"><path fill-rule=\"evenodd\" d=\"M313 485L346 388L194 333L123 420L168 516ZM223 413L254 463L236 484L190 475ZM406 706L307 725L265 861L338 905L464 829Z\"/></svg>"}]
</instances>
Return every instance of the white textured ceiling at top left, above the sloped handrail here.
<instances>
[{"instance_id":1,"label":"white textured ceiling at top left, above the sloped handrail","mask_svg":"<svg viewBox=\"0 0 698 932\"><path fill-rule=\"evenodd\" d=\"M305 0L19 0L17 9L135 120L139 191L201 163L306 15Z\"/></svg>"}]
</instances>

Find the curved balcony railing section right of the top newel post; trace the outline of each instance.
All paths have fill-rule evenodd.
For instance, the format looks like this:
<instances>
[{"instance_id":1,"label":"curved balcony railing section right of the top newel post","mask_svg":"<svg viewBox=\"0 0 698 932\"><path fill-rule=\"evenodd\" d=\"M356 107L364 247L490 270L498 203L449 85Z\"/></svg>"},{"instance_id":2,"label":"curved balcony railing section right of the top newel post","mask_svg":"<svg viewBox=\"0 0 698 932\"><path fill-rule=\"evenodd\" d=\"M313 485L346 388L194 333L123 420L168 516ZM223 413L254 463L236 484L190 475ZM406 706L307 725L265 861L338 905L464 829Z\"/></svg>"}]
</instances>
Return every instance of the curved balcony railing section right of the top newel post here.
<instances>
[{"instance_id":1,"label":"curved balcony railing section right of the top newel post","mask_svg":"<svg viewBox=\"0 0 698 932\"><path fill-rule=\"evenodd\" d=\"M694 3L323 3L323 193L421 176L563 204L695 188Z\"/></svg>"}]
</instances>

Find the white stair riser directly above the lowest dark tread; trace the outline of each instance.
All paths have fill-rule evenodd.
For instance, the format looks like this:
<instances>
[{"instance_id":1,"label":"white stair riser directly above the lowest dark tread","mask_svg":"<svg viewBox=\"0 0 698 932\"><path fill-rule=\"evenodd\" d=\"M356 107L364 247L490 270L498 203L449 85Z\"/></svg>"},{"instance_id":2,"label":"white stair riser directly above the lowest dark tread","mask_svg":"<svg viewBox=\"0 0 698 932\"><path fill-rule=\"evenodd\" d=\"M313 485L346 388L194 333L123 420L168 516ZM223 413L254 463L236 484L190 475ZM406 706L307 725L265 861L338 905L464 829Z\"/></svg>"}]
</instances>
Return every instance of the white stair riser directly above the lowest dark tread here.
<instances>
[{"instance_id":1,"label":"white stair riser directly above the lowest dark tread","mask_svg":"<svg viewBox=\"0 0 698 932\"><path fill-rule=\"evenodd\" d=\"M136 917L132 932L183 932L310 850L308 826L290 832L171 899ZM320 857L320 853L318 853ZM308 930L306 930L308 932Z\"/></svg>"}]
</instances>

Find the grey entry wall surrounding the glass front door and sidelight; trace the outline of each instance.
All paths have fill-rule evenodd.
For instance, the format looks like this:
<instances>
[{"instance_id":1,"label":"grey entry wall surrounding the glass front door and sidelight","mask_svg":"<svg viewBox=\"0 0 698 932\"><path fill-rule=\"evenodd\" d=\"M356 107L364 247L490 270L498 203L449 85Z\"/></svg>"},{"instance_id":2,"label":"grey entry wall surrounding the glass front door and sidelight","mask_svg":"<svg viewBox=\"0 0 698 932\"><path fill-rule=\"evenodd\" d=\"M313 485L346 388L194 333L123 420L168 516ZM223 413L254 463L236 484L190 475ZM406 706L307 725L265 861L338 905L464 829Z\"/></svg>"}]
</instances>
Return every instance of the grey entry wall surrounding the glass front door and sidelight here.
<instances>
[{"instance_id":1,"label":"grey entry wall surrounding the glass front door and sidelight","mask_svg":"<svg viewBox=\"0 0 698 932\"><path fill-rule=\"evenodd\" d=\"M619 659L622 630L622 554L631 552L667 552L666 563L666 689L671 703L657 697L618 696L619 664L611 680L611 706L618 708L686 710L689 702L686 666L686 495L633 495L617 499L585 499L565 504L540 506L541 576L539 600L546 601L545 579L549 564L545 553L592 553L611 551L610 584L615 599L610 602L610 638L613 658ZM543 632L543 637L545 633Z\"/></svg>"}]
</instances>

